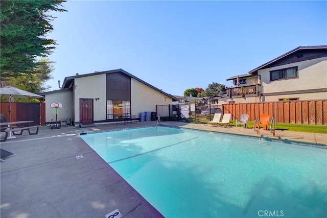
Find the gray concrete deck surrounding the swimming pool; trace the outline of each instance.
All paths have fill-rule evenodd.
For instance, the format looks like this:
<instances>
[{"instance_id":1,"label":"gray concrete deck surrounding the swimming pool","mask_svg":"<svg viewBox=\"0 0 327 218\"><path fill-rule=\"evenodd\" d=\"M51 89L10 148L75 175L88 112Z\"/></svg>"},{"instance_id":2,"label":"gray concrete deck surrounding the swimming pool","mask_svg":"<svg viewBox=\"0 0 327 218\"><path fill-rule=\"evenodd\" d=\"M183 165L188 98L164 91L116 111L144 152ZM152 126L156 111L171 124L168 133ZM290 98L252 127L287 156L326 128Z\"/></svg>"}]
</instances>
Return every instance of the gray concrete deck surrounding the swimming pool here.
<instances>
[{"instance_id":1,"label":"gray concrete deck surrounding the swimming pool","mask_svg":"<svg viewBox=\"0 0 327 218\"><path fill-rule=\"evenodd\" d=\"M16 154L1 163L1 217L105 217L115 209L123 217L162 217L79 137L81 133L154 125L156 122L55 130L41 127L38 135L24 133L1 142L2 149ZM327 144L327 134L276 131L273 136L270 131L260 130L258 135L240 127L160 125L268 137L285 143Z\"/></svg>"}]
</instances>

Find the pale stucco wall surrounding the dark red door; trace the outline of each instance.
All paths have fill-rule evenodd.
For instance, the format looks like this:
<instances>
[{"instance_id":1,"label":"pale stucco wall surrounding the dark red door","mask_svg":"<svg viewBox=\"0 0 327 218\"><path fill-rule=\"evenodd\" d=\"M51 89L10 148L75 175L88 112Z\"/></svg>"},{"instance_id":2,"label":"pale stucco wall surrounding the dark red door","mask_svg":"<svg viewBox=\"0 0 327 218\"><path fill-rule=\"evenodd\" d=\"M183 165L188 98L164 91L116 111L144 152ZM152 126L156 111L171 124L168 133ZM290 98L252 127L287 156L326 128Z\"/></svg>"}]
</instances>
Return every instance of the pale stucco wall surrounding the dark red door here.
<instances>
[{"instance_id":1,"label":"pale stucco wall surrounding the dark red door","mask_svg":"<svg viewBox=\"0 0 327 218\"><path fill-rule=\"evenodd\" d=\"M80 122L80 99L93 99L94 120L106 119L106 74L75 78L75 122ZM99 100L95 100L99 99Z\"/></svg>"}]
</instances>

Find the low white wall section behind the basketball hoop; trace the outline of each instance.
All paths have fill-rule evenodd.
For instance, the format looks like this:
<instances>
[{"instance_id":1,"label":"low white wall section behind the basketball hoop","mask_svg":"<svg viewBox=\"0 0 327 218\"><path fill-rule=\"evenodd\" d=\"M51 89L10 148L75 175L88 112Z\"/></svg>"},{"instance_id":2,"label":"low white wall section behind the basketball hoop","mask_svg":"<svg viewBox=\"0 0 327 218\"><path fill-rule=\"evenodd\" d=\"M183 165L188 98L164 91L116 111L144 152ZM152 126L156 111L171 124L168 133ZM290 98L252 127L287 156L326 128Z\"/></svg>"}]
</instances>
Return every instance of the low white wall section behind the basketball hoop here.
<instances>
[{"instance_id":1,"label":"low white wall section behind the basketball hoop","mask_svg":"<svg viewBox=\"0 0 327 218\"><path fill-rule=\"evenodd\" d=\"M53 102L60 102L63 104L63 108L59 109L57 114L57 121L66 120L67 118L73 119L73 93L72 90L61 91L45 95L45 122L55 122L56 114L50 104Z\"/></svg>"}]
</instances>

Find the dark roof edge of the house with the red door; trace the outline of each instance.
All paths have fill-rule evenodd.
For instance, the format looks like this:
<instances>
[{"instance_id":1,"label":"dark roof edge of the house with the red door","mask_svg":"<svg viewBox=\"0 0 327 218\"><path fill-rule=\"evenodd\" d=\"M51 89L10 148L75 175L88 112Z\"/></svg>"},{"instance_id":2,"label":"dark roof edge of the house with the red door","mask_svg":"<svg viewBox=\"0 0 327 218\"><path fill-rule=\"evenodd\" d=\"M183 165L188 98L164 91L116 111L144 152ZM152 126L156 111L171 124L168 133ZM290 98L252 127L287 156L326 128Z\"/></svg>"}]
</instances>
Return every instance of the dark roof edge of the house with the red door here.
<instances>
[{"instance_id":1,"label":"dark roof edge of the house with the red door","mask_svg":"<svg viewBox=\"0 0 327 218\"><path fill-rule=\"evenodd\" d=\"M129 72L127 72L127 71L125 71L123 69L113 69L113 70L107 70L107 71L101 71L101 72L96 71L96 72L92 72L90 74L82 74L82 75L65 77L65 79L63 81L63 84L62 84L62 88L68 88L76 78L90 77L90 76L101 75L101 74L112 74L114 72L122 72L123 74L126 74L127 76L137 80L138 82L141 82L141 83L143 83L143 84L157 90L158 92L161 92L162 94L167 95L169 98L172 98L174 102L178 101L178 99L175 96L173 96L171 94L168 94L168 93L166 93L166 92L164 92L164 91L150 85L149 83L145 82L144 80L141 80L141 79L135 77L134 75L131 75Z\"/></svg>"}]
</instances>

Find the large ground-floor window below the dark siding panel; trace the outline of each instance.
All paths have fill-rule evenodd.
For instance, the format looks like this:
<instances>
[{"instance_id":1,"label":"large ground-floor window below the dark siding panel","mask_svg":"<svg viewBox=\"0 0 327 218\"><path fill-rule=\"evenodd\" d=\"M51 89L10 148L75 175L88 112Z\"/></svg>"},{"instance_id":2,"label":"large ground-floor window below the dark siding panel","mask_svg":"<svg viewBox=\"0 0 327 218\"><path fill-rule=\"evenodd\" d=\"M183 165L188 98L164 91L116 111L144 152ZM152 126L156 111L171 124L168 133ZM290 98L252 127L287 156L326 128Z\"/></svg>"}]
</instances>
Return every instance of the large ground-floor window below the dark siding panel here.
<instances>
[{"instance_id":1,"label":"large ground-floor window below the dark siding panel","mask_svg":"<svg viewBox=\"0 0 327 218\"><path fill-rule=\"evenodd\" d=\"M107 119L131 115L131 101L107 100Z\"/></svg>"}]
</instances>

